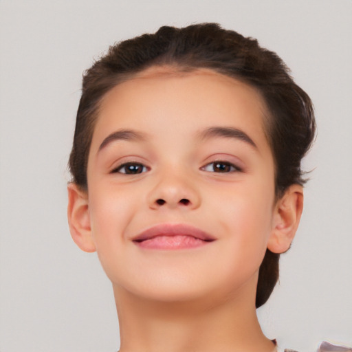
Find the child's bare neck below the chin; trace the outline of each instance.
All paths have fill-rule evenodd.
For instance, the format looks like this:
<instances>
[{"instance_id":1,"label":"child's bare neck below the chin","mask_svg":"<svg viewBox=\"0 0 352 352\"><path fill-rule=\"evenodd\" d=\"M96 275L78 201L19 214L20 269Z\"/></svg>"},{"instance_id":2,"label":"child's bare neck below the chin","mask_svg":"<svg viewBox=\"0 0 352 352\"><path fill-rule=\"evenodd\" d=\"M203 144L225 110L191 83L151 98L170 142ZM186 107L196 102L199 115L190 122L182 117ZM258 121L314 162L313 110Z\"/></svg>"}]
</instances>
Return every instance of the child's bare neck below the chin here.
<instances>
[{"instance_id":1,"label":"child's bare neck below the chin","mask_svg":"<svg viewBox=\"0 0 352 352\"><path fill-rule=\"evenodd\" d=\"M155 302L114 287L120 352L272 352L248 297Z\"/></svg>"}]
</instances>

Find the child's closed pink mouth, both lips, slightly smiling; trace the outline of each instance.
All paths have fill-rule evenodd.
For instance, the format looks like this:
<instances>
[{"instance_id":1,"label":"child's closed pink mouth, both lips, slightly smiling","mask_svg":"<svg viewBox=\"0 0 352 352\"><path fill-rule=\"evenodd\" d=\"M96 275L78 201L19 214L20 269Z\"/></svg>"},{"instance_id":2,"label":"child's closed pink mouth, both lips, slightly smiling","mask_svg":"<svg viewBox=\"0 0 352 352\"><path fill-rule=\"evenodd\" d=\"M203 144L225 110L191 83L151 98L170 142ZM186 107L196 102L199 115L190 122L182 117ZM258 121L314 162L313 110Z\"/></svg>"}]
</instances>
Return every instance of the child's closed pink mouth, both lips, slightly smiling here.
<instances>
[{"instance_id":1,"label":"child's closed pink mouth, both lips, slightly smiling","mask_svg":"<svg viewBox=\"0 0 352 352\"><path fill-rule=\"evenodd\" d=\"M132 241L140 248L177 250L198 248L215 241L215 238L190 225L166 223L148 228Z\"/></svg>"}]
</instances>

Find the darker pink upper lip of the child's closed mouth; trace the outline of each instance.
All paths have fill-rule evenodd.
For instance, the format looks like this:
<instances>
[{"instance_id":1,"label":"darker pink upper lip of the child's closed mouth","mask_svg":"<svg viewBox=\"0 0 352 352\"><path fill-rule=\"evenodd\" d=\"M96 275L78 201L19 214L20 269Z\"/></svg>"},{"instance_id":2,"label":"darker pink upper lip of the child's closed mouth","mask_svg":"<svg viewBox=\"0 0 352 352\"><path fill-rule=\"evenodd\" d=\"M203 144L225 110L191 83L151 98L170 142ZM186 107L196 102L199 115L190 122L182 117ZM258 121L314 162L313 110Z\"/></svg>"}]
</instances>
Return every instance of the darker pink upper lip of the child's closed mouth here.
<instances>
[{"instance_id":1,"label":"darker pink upper lip of the child's closed mouth","mask_svg":"<svg viewBox=\"0 0 352 352\"><path fill-rule=\"evenodd\" d=\"M148 228L142 231L137 236L133 237L132 241L142 242L146 239L152 239L156 236L192 236L196 239L201 239L203 241L214 241L214 236L206 233L199 228L195 228L191 225L186 225L184 223L171 224L171 223L162 223L159 225L154 225L151 228Z\"/></svg>"}]
</instances>

